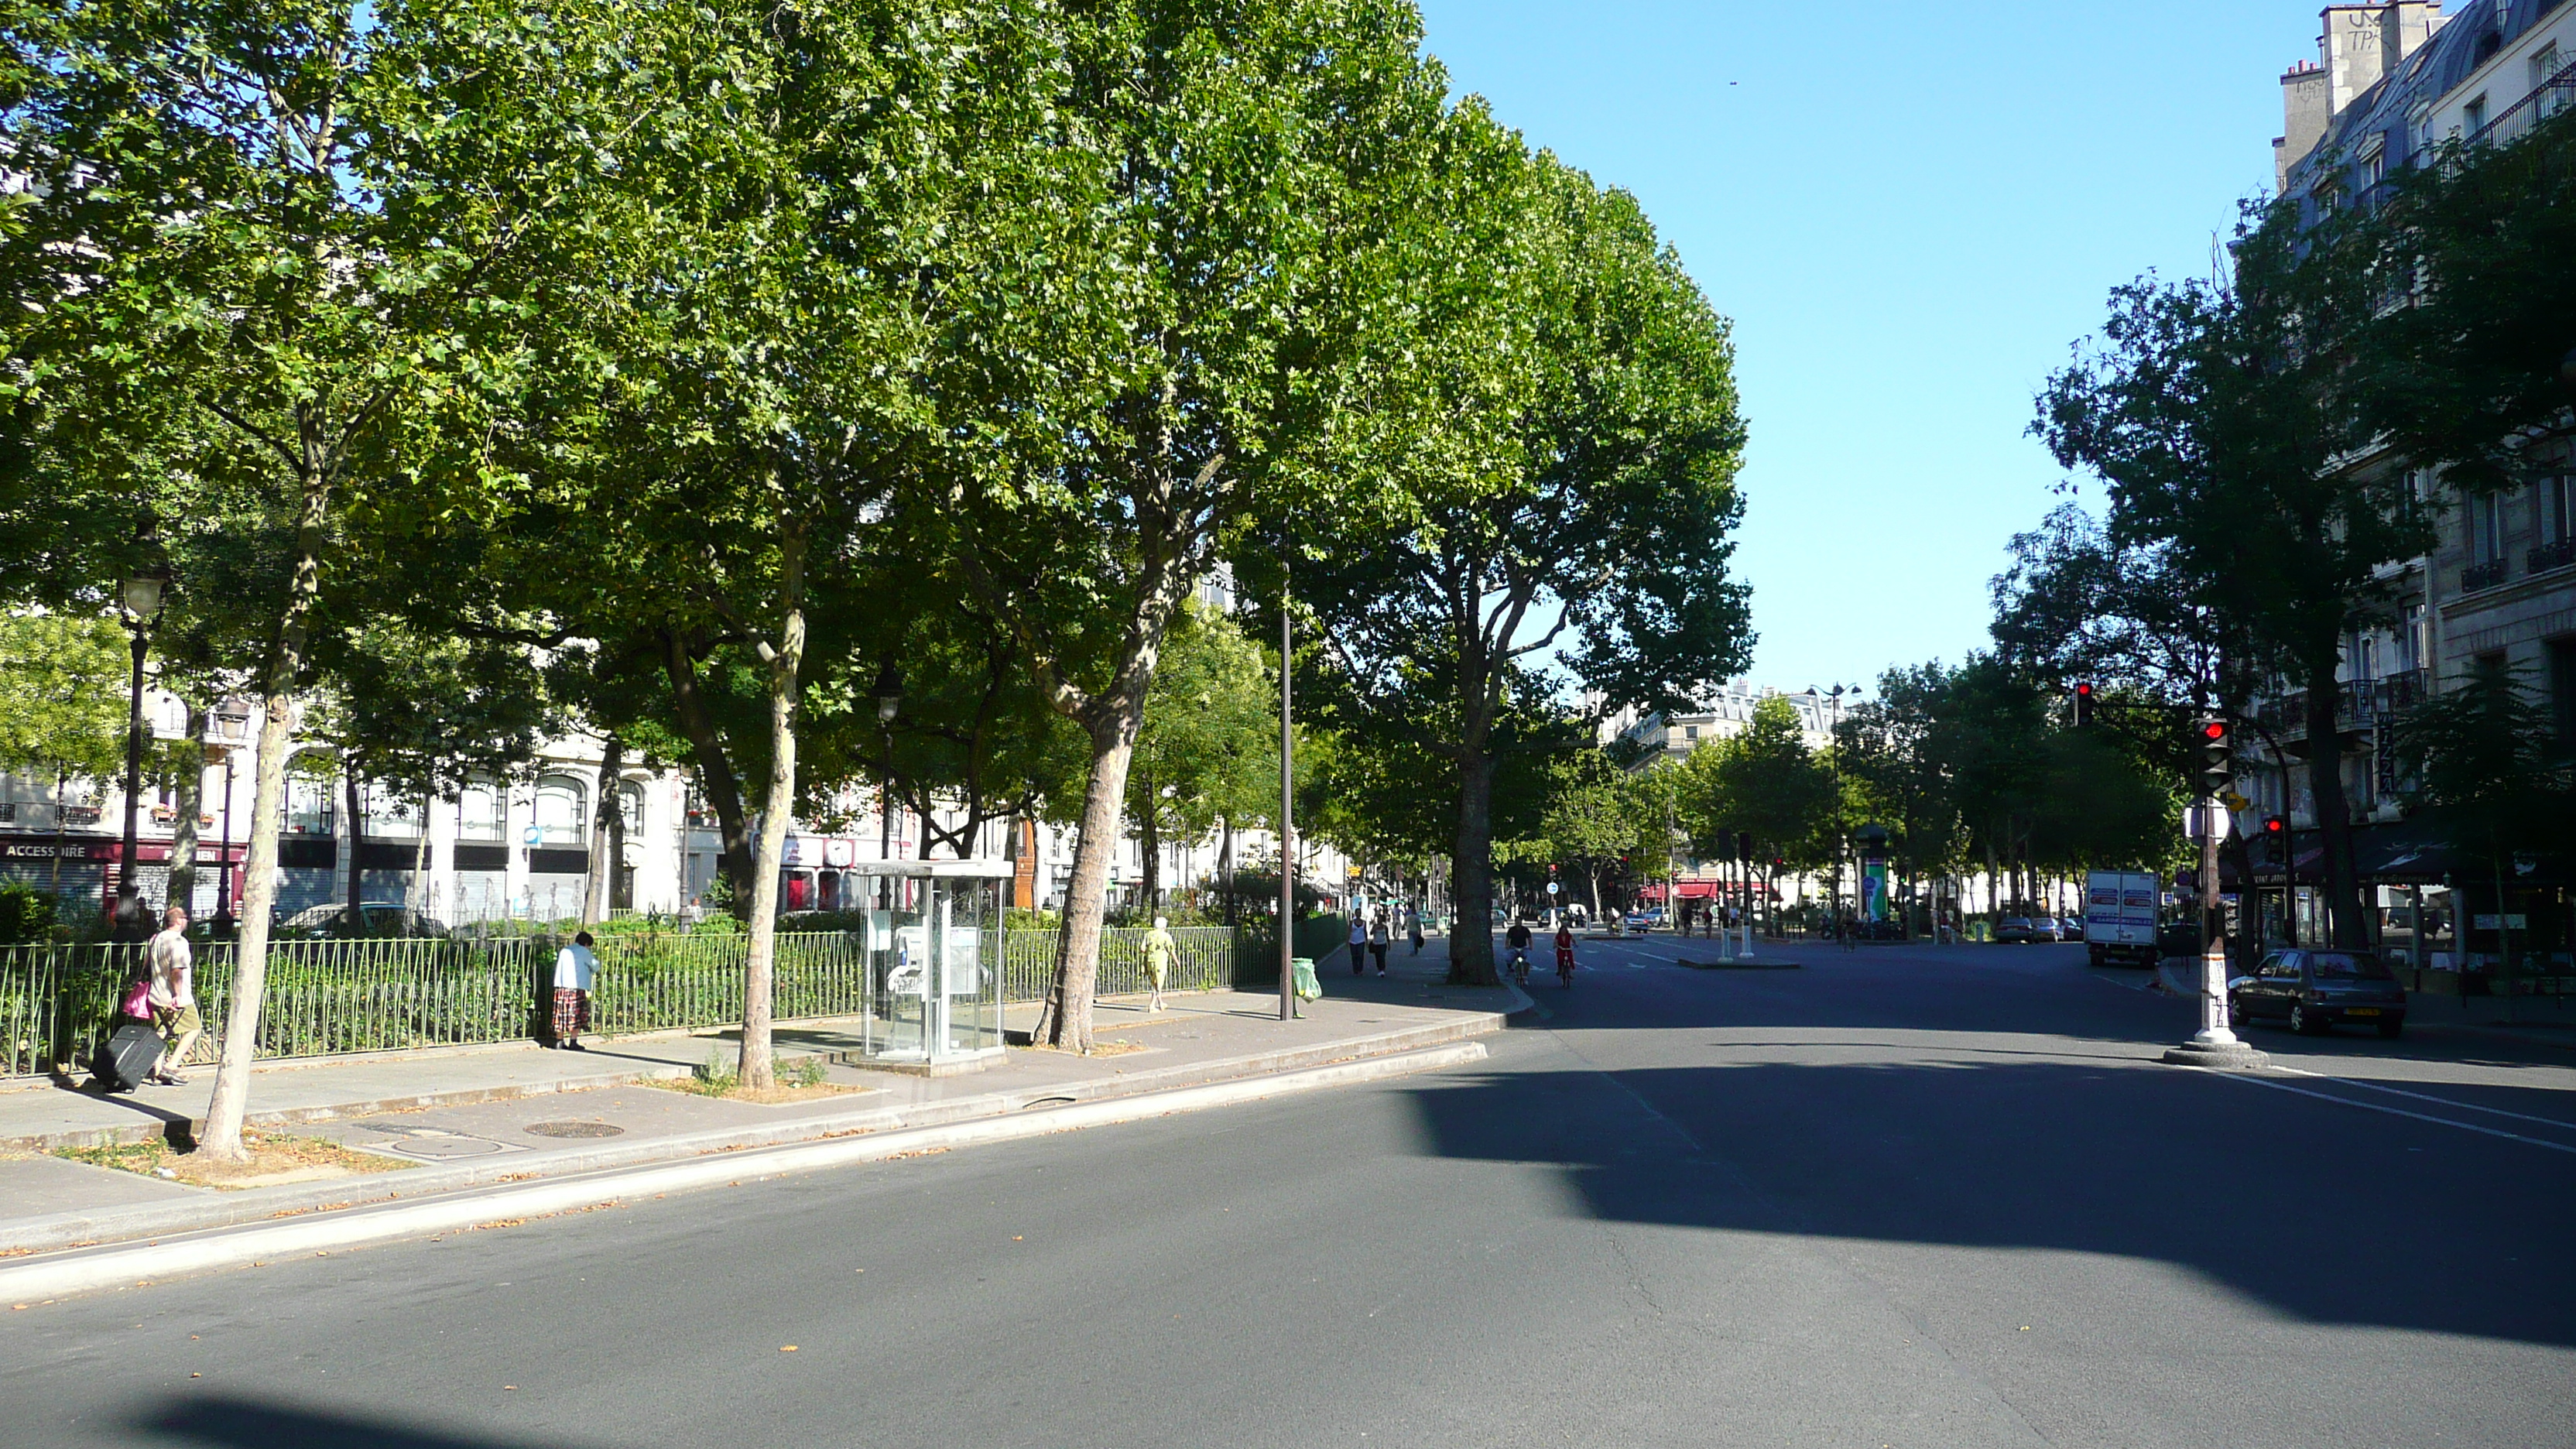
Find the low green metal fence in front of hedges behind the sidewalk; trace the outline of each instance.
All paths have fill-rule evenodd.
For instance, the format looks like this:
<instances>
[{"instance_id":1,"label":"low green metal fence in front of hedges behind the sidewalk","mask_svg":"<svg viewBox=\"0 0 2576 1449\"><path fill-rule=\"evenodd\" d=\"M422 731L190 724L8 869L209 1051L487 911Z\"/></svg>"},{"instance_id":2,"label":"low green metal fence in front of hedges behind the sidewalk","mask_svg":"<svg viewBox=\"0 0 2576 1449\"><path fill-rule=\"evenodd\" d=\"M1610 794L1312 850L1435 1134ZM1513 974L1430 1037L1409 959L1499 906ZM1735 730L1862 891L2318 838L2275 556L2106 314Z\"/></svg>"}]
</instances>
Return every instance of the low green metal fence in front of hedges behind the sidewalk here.
<instances>
[{"instance_id":1,"label":"low green metal fence in front of hedges behind the sidewalk","mask_svg":"<svg viewBox=\"0 0 2576 1449\"><path fill-rule=\"evenodd\" d=\"M1278 936L1195 926L1167 990L1278 982ZM1340 918L1298 920L1298 954L1321 957L1342 938ZM1146 990L1144 931L1100 933L1100 995ZM335 1057L407 1047L520 1042L546 1031L556 936L276 941L260 1006L260 1057ZM603 933L592 1029L618 1036L742 1021L742 933ZM1056 967L1054 931L1002 933L1002 1000L1041 1000ZM85 1070L116 998L144 969L144 946L0 946L0 1075ZM229 941L196 949L196 998L206 1018L198 1062L219 1052L232 1006ZM781 1021L858 1016L868 957L848 933L778 936L773 1013Z\"/></svg>"}]
</instances>

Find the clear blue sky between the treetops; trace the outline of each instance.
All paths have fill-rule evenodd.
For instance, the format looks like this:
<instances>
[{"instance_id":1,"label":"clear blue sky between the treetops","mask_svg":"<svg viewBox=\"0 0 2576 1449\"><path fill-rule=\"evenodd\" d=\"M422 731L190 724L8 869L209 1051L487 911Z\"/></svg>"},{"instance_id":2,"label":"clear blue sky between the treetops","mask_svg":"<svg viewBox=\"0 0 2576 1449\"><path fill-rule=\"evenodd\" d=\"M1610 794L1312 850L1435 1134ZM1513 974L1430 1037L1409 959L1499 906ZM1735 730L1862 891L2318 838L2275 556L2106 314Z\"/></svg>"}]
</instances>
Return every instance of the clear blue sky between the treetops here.
<instances>
[{"instance_id":1,"label":"clear blue sky between the treetops","mask_svg":"<svg viewBox=\"0 0 2576 1449\"><path fill-rule=\"evenodd\" d=\"M1757 683L1986 642L2030 397L2272 183L2316 5L1425 0L1455 90L1633 191L1736 325Z\"/></svg>"}]
</instances>

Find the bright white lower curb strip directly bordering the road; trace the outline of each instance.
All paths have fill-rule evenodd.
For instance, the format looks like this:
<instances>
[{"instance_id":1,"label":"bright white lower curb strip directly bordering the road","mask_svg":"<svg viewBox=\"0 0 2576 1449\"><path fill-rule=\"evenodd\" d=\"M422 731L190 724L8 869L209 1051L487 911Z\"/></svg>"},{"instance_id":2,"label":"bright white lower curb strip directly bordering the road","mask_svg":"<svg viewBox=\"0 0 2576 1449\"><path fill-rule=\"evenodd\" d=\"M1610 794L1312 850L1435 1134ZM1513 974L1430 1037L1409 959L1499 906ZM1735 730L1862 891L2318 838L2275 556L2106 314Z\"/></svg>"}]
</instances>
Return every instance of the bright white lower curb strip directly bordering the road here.
<instances>
[{"instance_id":1,"label":"bright white lower curb strip directly bordering the road","mask_svg":"<svg viewBox=\"0 0 2576 1449\"><path fill-rule=\"evenodd\" d=\"M1018 1116L987 1116L945 1127L920 1127L871 1137L832 1137L724 1158L693 1158L644 1168L585 1173L536 1183L510 1183L492 1191L451 1194L430 1201L379 1204L299 1222L273 1222L247 1230L219 1230L178 1243L147 1243L75 1250L0 1269L0 1297L15 1305L59 1299L111 1287L149 1287L173 1276L260 1266L289 1253L325 1253L422 1232L448 1232L492 1222L495 1214L541 1217L623 1201L644 1191L690 1191L737 1186L747 1178L811 1173L824 1168L881 1163L909 1152L943 1152L984 1142L1046 1137L1082 1127L1108 1127L1177 1111L1206 1111L1270 1096L1386 1080L1484 1060L1481 1042L1453 1042L1391 1057L1365 1057L1301 1073L1275 1073L1231 1083L1139 1093L1118 1101L1090 1101Z\"/></svg>"}]
</instances>

